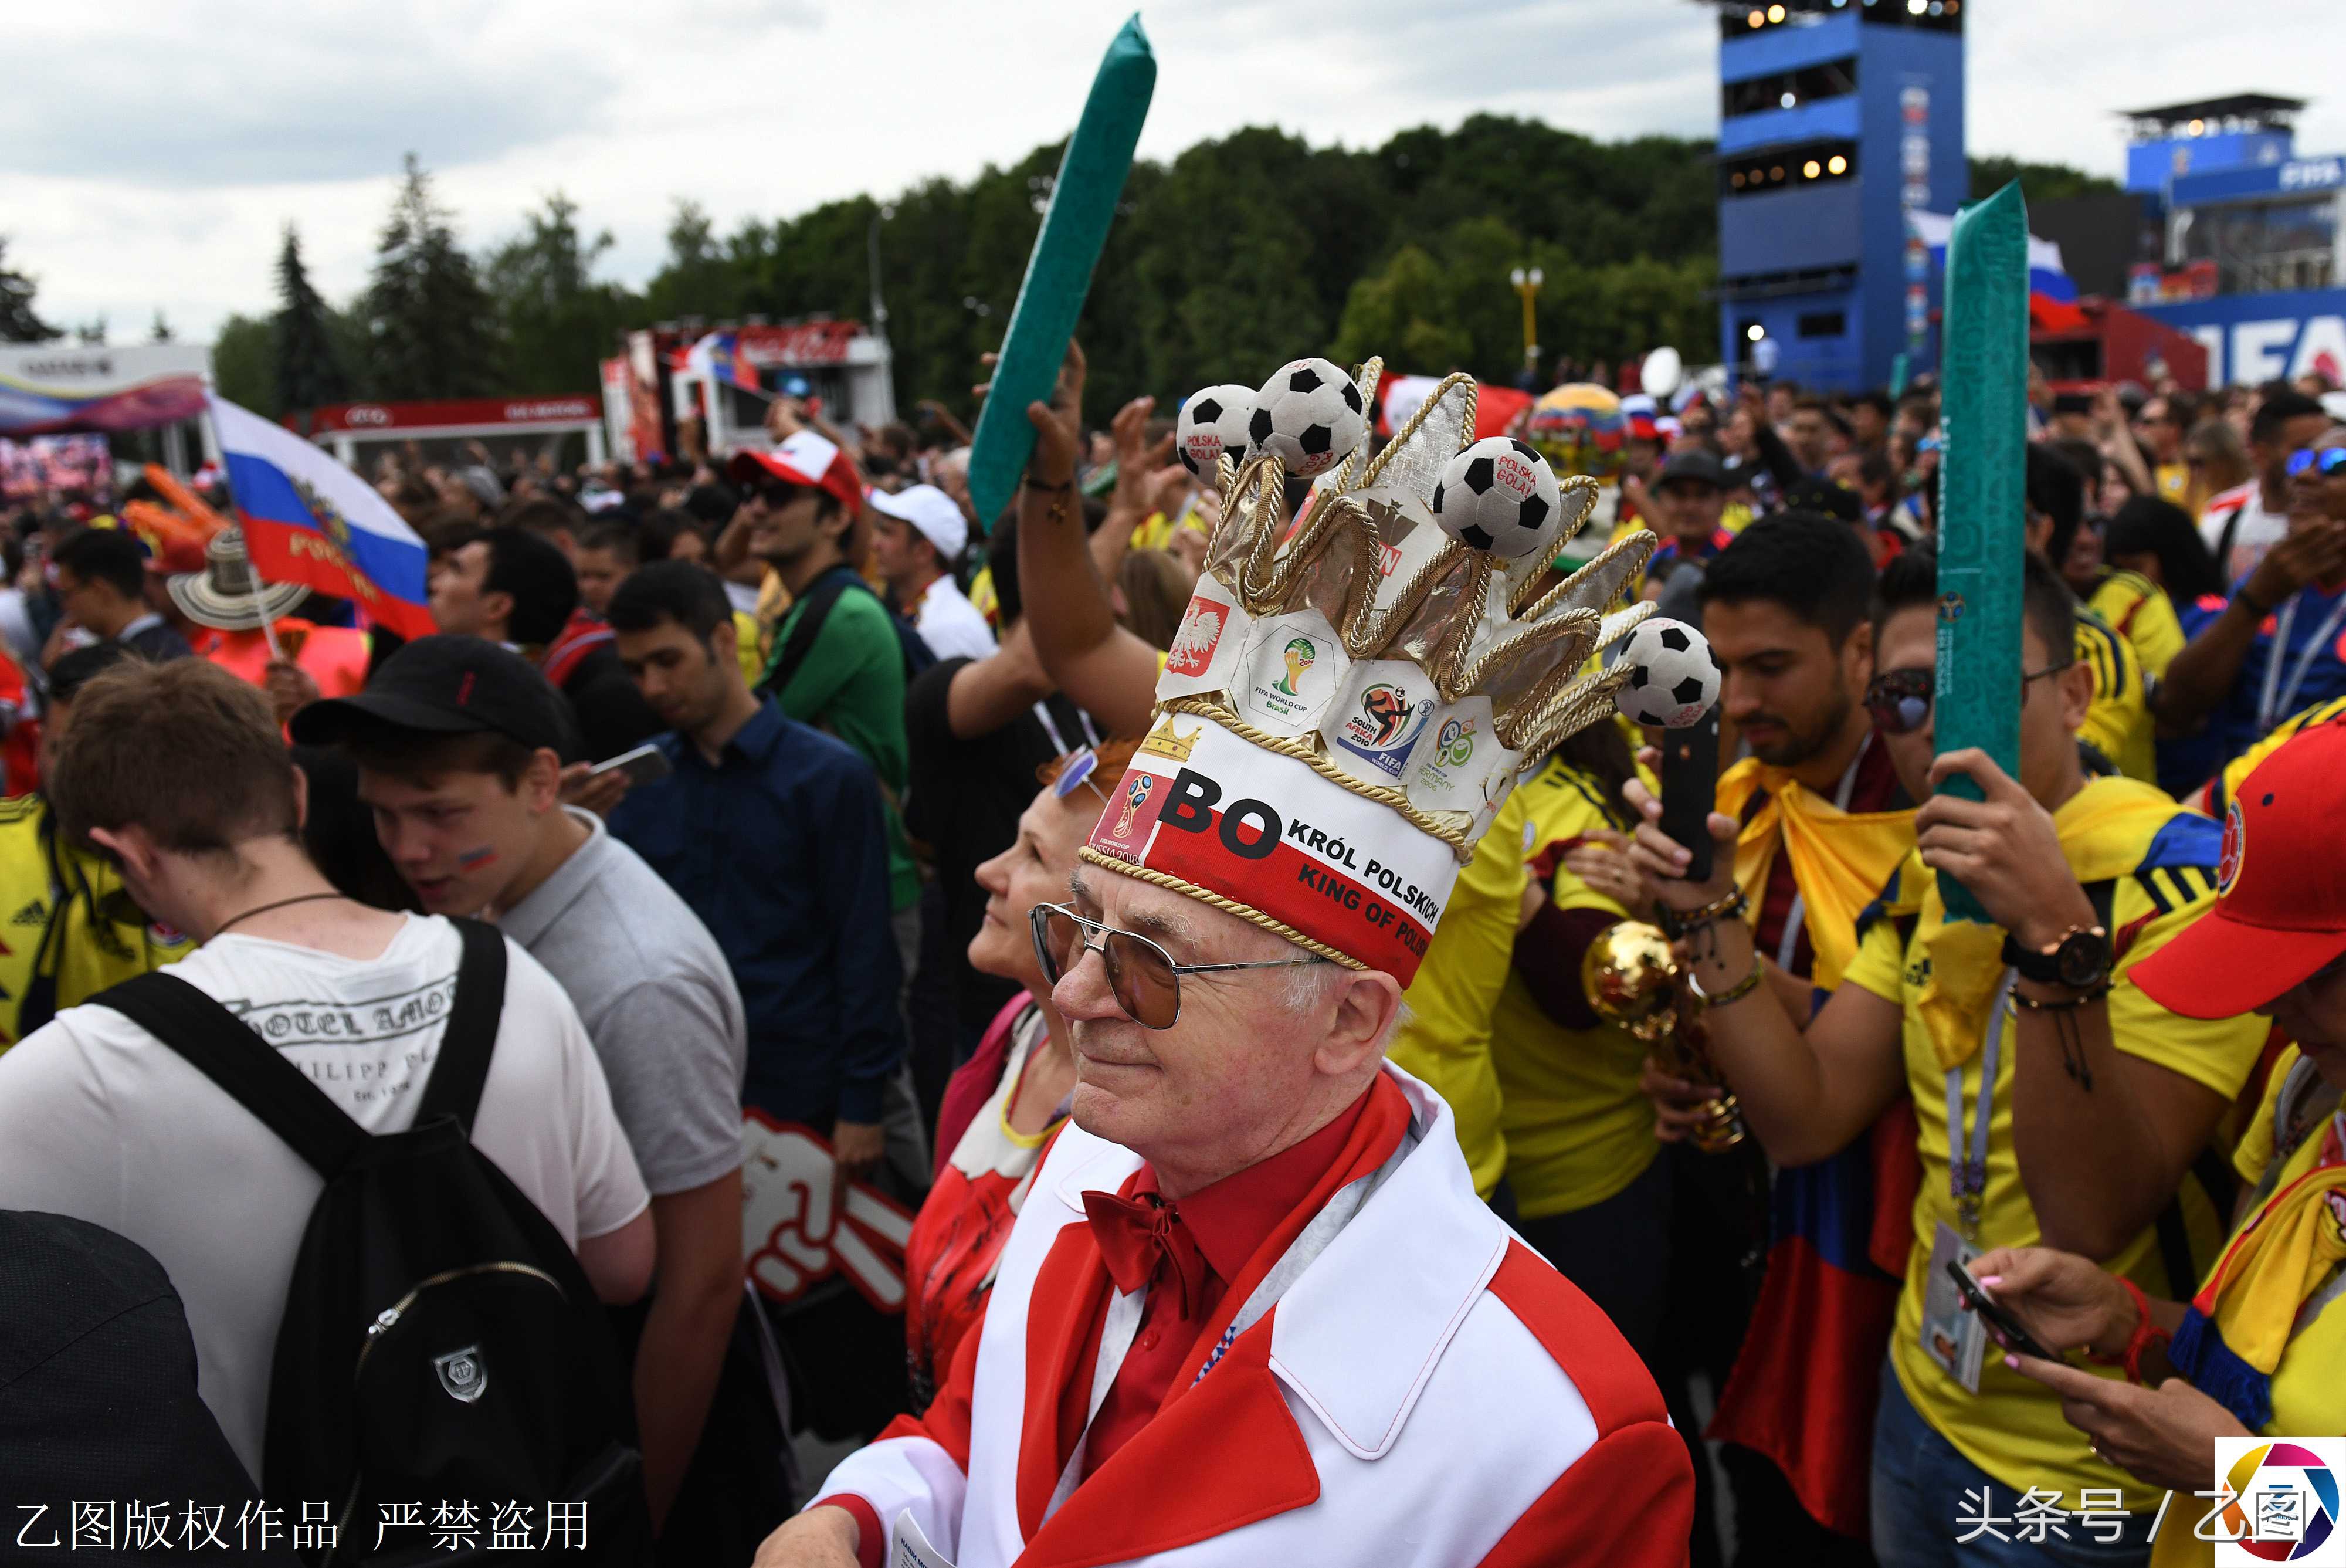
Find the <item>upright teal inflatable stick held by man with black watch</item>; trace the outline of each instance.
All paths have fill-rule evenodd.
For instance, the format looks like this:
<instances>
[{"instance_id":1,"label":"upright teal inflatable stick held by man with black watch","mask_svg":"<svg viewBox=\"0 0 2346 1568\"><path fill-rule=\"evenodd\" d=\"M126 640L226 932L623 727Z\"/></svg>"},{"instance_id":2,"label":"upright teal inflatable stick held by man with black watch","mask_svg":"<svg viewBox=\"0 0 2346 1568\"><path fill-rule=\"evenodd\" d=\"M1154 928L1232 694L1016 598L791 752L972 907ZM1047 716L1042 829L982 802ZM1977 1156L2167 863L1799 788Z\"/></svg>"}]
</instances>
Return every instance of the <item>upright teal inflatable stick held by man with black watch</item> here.
<instances>
[{"instance_id":1,"label":"upright teal inflatable stick held by man with black watch","mask_svg":"<svg viewBox=\"0 0 2346 1568\"><path fill-rule=\"evenodd\" d=\"M2020 559L2027 549L2029 209L2020 181L1954 216L1938 469L1938 749L2020 777ZM1940 791L1980 798L1957 775ZM1950 920L1987 922L1945 871Z\"/></svg>"}]
</instances>

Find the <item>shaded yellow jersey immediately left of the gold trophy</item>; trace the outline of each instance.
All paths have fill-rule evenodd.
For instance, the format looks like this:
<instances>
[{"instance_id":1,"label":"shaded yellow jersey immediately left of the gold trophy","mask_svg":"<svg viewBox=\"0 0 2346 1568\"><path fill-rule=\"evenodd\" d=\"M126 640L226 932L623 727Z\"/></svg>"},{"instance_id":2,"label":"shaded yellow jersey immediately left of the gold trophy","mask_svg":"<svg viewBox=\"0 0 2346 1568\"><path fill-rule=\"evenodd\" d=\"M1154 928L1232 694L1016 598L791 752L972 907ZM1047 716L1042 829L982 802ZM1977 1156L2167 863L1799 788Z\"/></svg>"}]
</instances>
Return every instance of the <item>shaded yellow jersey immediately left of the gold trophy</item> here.
<instances>
[{"instance_id":1,"label":"shaded yellow jersey immediately left of the gold trophy","mask_svg":"<svg viewBox=\"0 0 2346 1568\"><path fill-rule=\"evenodd\" d=\"M1530 854L1595 829L1628 833L1635 826L1626 805L1605 800L1593 775L1553 756L1516 789L1516 800L1525 807L1530 836L1520 843ZM1560 911L1623 915L1619 904L1562 866L1548 897ZM1499 1070L1506 1183L1525 1218L1600 1204L1661 1153L1654 1106L1638 1089L1645 1047L1619 1023L1600 1019L1595 1028L1565 1028L1539 1009L1532 988L1508 967L1490 1054Z\"/></svg>"}]
</instances>

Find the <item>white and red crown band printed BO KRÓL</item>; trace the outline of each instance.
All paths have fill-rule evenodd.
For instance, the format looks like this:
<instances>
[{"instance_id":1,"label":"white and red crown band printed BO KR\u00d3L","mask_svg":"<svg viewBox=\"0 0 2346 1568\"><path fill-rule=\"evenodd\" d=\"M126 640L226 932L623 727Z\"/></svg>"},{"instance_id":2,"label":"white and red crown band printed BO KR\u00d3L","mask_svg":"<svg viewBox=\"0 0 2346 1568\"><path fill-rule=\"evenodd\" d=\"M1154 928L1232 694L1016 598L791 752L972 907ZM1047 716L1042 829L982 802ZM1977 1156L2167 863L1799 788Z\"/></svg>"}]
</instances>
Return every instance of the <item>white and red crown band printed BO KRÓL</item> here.
<instances>
[{"instance_id":1,"label":"white and red crown band printed BO KR\u00d3L","mask_svg":"<svg viewBox=\"0 0 2346 1568\"><path fill-rule=\"evenodd\" d=\"M1347 685L1358 683L1361 669L1368 667L1356 664ZM1297 653L1281 671L1286 685L1272 681L1272 702L1316 697L1318 707L1333 707L1337 692L1311 692L1307 674L1309 662ZM1379 711L1368 723L1386 721L1389 711ZM1408 756L1424 742L1417 725L1389 737L1384 751ZM1372 737L1363 737L1363 749L1377 749ZM1408 986L1459 864L1438 838L1396 826L1389 805L1302 758L1246 742L1206 716L1166 714L1110 791L1091 850L1168 878L1182 892L1246 890L1246 901L1290 934L1351 953Z\"/></svg>"}]
</instances>

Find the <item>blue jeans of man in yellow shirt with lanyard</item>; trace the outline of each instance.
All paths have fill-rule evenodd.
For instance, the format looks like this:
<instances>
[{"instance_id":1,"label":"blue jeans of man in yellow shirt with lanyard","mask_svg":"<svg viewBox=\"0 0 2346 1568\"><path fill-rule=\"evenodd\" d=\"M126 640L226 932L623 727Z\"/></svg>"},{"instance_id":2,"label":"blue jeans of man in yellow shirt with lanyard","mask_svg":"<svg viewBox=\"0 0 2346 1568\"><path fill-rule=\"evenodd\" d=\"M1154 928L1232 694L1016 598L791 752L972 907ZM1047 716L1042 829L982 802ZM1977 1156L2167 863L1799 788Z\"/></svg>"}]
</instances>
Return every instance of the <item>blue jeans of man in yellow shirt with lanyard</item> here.
<instances>
[{"instance_id":1,"label":"blue jeans of man in yellow shirt with lanyard","mask_svg":"<svg viewBox=\"0 0 2346 1568\"><path fill-rule=\"evenodd\" d=\"M2079 1446L2086 1437L2079 1434ZM1994 1530L1973 1535L1985 1514ZM1968 1493L1968 1498L1966 1498ZM2057 1523L2067 1537L2046 1530L2022 1540L2013 1523L2020 1493L1992 1479L1957 1453L1954 1444L1914 1411L1898 1387L1896 1368L1881 1368L1881 1404L1874 1408L1874 1556L1881 1568L2140 1568L2151 1559L2151 1514L2128 1514L2125 1530L2104 1542L2074 1514ZM1959 1521L1961 1519L1961 1521ZM2175 1526L2172 1512L2168 1528ZM2189 1526L2186 1526L2189 1528ZM1996 1533L2006 1540L1996 1540ZM1957 1545L1959 1535L1973 1535Z\"/></svg>"}]
</instances>

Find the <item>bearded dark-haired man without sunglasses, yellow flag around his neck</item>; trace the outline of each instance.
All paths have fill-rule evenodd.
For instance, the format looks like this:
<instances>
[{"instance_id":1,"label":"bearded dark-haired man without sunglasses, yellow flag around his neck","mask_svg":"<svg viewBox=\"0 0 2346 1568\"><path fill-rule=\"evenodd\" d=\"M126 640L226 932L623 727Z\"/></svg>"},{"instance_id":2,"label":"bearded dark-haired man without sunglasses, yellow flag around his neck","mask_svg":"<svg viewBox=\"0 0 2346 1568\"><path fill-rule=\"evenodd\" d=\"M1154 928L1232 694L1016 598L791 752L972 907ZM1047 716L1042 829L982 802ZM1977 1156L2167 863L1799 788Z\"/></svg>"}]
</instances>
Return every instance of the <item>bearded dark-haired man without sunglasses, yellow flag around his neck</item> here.
<instances>
[{"instance_id":1,"label":"bearded dark-haired man without sunglasses, yellow flag around his neck","mask_svg":"<svg viewBox=\"0 0 2346 1568\"><path fill-rule=\"evenodd\" d=\"M1872 587L1865 542L1820 512L1752 523L1710 561L1701 584L1703 631L1727 676L1722 716L1750 746L1720 779L1717 810L1743 822L1743 918L1795 1016L1839 986L1856 953L1858 913L1914 847L1912 800L1863 707L1874 667L1865 617ZM1863 1561L1853 1542L1837 1542L1823 1526L1863 1530L1865 1446L1844 1437L1863 1432L1872 1415L1879 1345L1898 1305L1896 1277L1865 1258L1863 1221L1872 1202L1898 1211L1891 1190L1912 1192L1910 1174L1881 1190L1881 1178L1910 1169L1912 1155L1877 1169L1877 1150L1910 1148L1900 1110L1839 1157L1778 1176L1778 1244L1748 1314L1752 1293L1736 1261L1767 1246L1771 1232L1760 1214L1767 1162L1752 1143L1720 1157L1670 1150L1680 1176L1673 1275L1682 1286L1673 1296L1713 1303L1706 1322L1684 1326L1694 1338L1680 1343L1694 1343L1713 1376L1734 1364L1713 1434L1729 1439L1722 1462L1745 1554L1771 1542L1778 1556L1769 1561ZM1811 1232L1806 1221L1820 1211L1856 1223ZM1816 1345L1818 1322L1799 1326L1818 1300L1839 1303L1820 1319L1846 1329L1837 1345ZM1804 1376L1783 1357L1738 1357L1745 1329L1760 1345L1783 1343L1774 1333L1804 1336L1816 1345L1813 1366L1849 1376L1820 1378L1813 1366Z\"/></svg>"}]
</instances>

